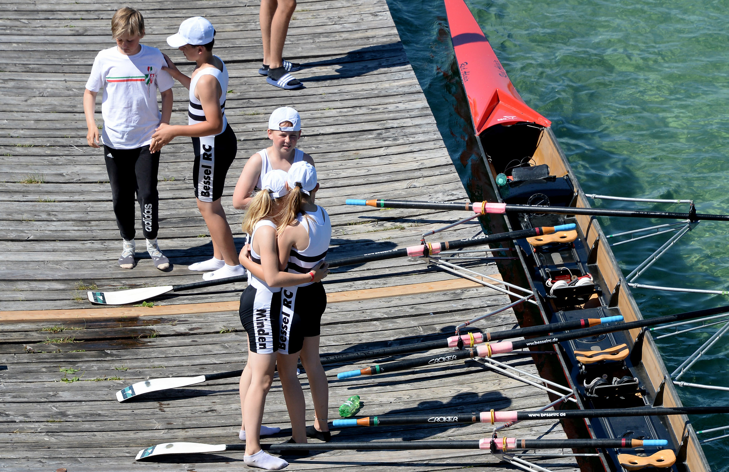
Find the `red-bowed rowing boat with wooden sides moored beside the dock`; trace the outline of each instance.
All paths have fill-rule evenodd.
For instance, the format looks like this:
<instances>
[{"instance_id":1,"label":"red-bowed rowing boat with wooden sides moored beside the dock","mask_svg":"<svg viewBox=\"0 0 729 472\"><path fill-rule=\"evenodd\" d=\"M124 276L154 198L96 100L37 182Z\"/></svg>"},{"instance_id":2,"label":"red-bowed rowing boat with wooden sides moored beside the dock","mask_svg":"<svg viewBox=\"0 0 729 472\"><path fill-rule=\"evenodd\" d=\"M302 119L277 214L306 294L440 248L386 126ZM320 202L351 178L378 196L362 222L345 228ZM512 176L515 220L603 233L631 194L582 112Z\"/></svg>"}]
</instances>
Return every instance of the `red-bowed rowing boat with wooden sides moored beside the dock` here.
<instances>
[{"instance_id":1,"label":"red-bowed rowing boat with wooden sides moored beside the dock","mask_svg":"<svg viewBox=\"0 0 729 472\"><path fill-rule=\"evenodd\" d=\"M496 176L499 173L505 173L508 176L513 168L529 163L533 165L533 168L537 168L539 165L548 166L549 176L553 176L555 181L562 179L559 181L562 187L571 187L569 200L561 202L561 205L589 208L587 197L582 192L569 162L549 128L550 121L523 102L464 1L445 0L445 6L456 60L468 97L474 133L478 138L483 160L489 170L491 186L496 198L499 202L517 202L515 199L520 197L519 192L522 192L524 198L529 196L528 184L524 184L516 192L515 187L508 185L507 189L504 185L496 184ZM514 160L516 162L513 162ZM550 195L539 194L547 200L550 198ZM559 189L555 194L559 194ZM498 226L498 223L495 222L498 218L492 216L492 226ZM529 218L525 219L523 216L514 214L504 218L504 225L508 230L523 229L525 224L530 224L528 220ZM590 273L595 283L594 293L588 294L584 300L581 300L583 303L579 306L580 310L603 310L607 315L620 314L626 321L642 319L642 314L620 272L612 250L609 245L601 243L606 238L598 221L590 216L577 216L566 222L574 222L578 225L578 235L574 240L574 247L571 249L571 253L566 253L566 256L575 259L574 267ZM547 260L550 255L536 256L538 251L535 251L528 243L514 242L514 244L521 248L518 253L523 278L529 281L532 290L540 294L539 313L531 317L528 313L523 313L523 326L563 321L569 319L570 313L574 315L574 312L579 312L579 310L575 310L574 305L569 305L574 302L574 299L555 300L555 297L547 291L548 287L544 283L545 274L554 272L554 266L550 266L551 261ZM550 272L550 267L552 272ZM510 274L503 275L506 278ZM572 272L569 275L572 275ZM517 275L517 278L521 278L521 276ZM568 303L566 306L560 306L565 302ZM610 343L615 345L624 343L633 353L631 358L623 361L624 365L606 363L603 366L600 364L601 368L610 372L611 375L623 373L624 377L639 379L638 395L635 398L619 396L615 398L623 398L622 401L628 404L636 403L633 406L650 404L648 400L650 399L652 402L655 399L663 384L663 405L681 406L681 401L670 380L663 382L664 378L670 377L666 377L666 366L664 366L650 334L644 333L643 341L636 344L635 340L638 336L639 330L634 330L593 342L594 346L599 345L600 347ZM565 354L558 355L561 369L558 369L559 366L555 366L555 363L549 367L548 360L539 362L539 366L542 368L540 371L545 377L564 374L569 385L580 394L580 408L596 408L598 407L596 404L607 401L599 396L590 396L588 389L582 385L582 382L590 377L590 369L576 360L574 350L589 350L589 344L589 340L562 343L561 347ZM627 380L625 382L625 385L630 383ZM580 430L580 425L575 423L572 423L572 428L565 425L565 429L568 435L582 435L586 430L593 437L613 437L622 435L632 426L634 430L642 430L646 434L667 435L670 436L666 439L671 447L679 452L679 460L685 460L686 464L685 467L682 462L678 462L673 467L675 470L680 471L684 468L694 472L710 470L706 457L699 446L698 438L691 425L687 424L687 417L656 417L652 420L642 417L641 421L631 423L624 419L592 420L592 422L585 420L586 429ZM683 448L681 447L682 442L685 443ZM685 458L682 457L684 454ZM601 461L605 470L621 470L615 450L608 450L607 454L601 455ZM585 465L587 464L581 464L583 470L594 468L594 463L586 467Z\"/></svg>"}]
</instances>

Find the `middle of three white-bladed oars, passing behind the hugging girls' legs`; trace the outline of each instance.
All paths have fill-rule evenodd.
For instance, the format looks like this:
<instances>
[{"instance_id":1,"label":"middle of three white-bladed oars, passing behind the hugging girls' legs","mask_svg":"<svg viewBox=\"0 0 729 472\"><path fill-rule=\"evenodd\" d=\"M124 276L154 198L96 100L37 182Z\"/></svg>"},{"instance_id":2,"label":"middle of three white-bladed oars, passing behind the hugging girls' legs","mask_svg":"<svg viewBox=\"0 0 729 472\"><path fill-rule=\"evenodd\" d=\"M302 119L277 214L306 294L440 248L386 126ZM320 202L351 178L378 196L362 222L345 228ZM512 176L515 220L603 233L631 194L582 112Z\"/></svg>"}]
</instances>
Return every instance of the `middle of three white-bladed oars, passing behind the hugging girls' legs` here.
<instances>
[{"instance_id":1,"label":"middle of three white-bladed oars, passing behind the hugging girls' legs","mask_svg":"<svg viewBox=\"0 0 729 472\"><path fill-rule=\"evenodd\" d=\"M507 329L504 331L496 331L494 333L472 333L461 334L461 342L464 345L480 344L486 341L497 341L500 339L509 339L533 334L553 333L556 331L565 331L567 329L582 329L589 326L597 326L601 323L612 323L622 321L622 316L607 316L605 318L585 318L584 320L564 321L562 323L552 323L542 326L530 326L529 328ZM356 353L334 354L321 357L321 364L327 365L332 363L341 363L349 361L362 361L369 358L379 358L386 355L417 353L418 351L441 349L446 347L456 347L458 345L458 336L451 336L448 339L438 339L437 341L416 342L409 345L383 347L381 349L371 349L358 351ZM145 393L157 392L160 390L168 390L170 388L182 388L188 385L195 385L208 380L230 379L240 377L242 370L217 372L215 374L195 375L191 377L163 377L161 379L149 379L137 382L126 388L122 388L117 392L117 400L127 401L130 398L144 395Z\"/></svg>"}]
</instances>

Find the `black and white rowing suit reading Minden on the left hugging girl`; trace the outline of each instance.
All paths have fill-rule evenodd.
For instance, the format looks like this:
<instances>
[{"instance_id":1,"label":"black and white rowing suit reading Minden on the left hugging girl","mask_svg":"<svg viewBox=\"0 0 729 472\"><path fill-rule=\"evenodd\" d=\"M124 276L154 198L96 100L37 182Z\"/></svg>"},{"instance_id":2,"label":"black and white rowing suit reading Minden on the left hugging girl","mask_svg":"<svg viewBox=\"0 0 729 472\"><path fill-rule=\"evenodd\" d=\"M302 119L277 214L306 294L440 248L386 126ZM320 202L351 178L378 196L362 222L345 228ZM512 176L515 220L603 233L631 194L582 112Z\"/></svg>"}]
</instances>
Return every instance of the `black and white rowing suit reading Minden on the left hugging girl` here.
<instances>
[{"instance_id":1,"label":"black and white rowing suit reading Minden on the left hugging girl","mask_svg":"<svg viewBox=\"0 0 729 472\"><path fill-rule=\"evenodd\" d=\"M253 250L253 238L256 230L262 226L276 229L273 221L259 221L253 228L251 243L251 259L261 263L260 256ZM238 310L243 328L248 333L248 348L251 353L272 354L278 350L279 324L281 314L281 288L270 288L265 280L261 280L248 272L248 287L241 294L241 307Z\"/></svg>"}]
</instances>

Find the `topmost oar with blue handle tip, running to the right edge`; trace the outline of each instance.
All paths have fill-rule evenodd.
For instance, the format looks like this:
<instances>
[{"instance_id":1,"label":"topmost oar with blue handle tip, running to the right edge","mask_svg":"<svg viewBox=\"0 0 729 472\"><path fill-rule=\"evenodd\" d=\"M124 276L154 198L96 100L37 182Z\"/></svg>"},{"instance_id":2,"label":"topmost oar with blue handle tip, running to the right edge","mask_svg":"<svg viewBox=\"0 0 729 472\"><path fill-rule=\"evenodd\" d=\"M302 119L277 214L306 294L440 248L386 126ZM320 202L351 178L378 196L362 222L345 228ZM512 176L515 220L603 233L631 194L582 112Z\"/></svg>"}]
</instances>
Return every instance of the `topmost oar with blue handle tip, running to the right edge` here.
<instances>
[{"instance_id":1,"label":"topmost oar with blue handle tip, running to the right edge","mask_svg":"<svg viewBox=\"0 0 729 472\"><path fill-rule=\"evenodd\" d=\"M538 205L511 205L488 202L418 202L413 200L346 200L347 205L367 205L375 208L418 208L421 210L463 210L485 215L486 213L555 213L558 215L630 216L632 218L689 219L690 221L729 221L729 215L696 213L692 206L689 213L670 211L610 210L608 208L575 208Z\"/></svg>"}]
</instances>

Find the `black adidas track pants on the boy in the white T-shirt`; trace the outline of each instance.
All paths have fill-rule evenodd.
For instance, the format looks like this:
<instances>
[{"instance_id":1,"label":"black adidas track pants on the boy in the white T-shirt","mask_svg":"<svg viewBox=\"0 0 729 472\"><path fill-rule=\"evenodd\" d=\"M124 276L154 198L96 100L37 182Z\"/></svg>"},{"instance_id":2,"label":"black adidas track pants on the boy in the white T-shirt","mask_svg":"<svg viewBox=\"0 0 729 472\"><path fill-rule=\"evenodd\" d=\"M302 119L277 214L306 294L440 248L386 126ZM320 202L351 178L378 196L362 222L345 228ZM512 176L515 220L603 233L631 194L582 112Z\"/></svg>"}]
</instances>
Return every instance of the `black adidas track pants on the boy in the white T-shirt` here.
<instances>
[{"instance_id":1,"label":"black adidas track pants on the boy in the white T-shirt","mask_svg":"<svg viewBox=\"0 0 729 472\"><path fill-rule=\"evenodd\" d=\"M134 196L139 201L141 227L144 237L157 237L157 169L160 153L149 152L149 146L137 149L112 149L104 146L104 160L109 182L112 184L112 202L117 227L125 240L134 239Z\"/></svg>"}]
</instances>

